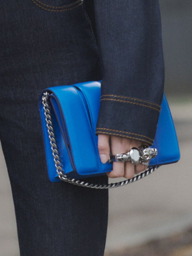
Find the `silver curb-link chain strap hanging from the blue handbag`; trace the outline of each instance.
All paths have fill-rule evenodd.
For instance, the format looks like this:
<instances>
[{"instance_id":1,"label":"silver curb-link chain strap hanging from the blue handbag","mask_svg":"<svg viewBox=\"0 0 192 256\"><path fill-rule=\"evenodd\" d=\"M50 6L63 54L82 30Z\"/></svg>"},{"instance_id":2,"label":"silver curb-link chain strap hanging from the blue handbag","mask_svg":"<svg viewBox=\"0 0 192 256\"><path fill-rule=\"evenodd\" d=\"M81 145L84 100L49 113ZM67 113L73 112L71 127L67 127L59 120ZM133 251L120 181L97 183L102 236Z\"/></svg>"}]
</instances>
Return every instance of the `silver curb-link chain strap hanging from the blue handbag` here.
<instances>
[{"instance_id":1,"label":"silver curb-link chain strap hanging from the blue handbag","mask_svg":"<svg viewBox=\"0 0 192 256\"><path fill-rule=\"evenodd\" d=\"M160 167L160 165L148 167L148 169L145 172L138 174L137 176L133 177L132 179L124 180L124 181L117 182L117 183L110 183L110 184L92 184L92 183L88 183L88 182L85 182L82 180L76 180L74 178L67 178L67 175L65 175L64 170L62 168L61 160L59 157L58 147L57 147L57 143L56 143L56 136L55 136L55 132L53 129L53 123L52 123L52 118L51 118L51 113L50 113L51 106L48 102L48 94L49 93L47 91L43 93L42 104L43 104L43 109L44 109L47 132L49 134L49 140L50 140L50 144L51 144L51 151L52 151L53 159L55 162L56 171L57 171L57 174L58 174L58 177L60 180L69 182L73 185L82 186L82 187L108 189L108 188L114 188L114 187L124 186L129 183L133 183L137 180L140 180L140 179L146 177L147 175L151 174L157 168Z\"/></svg>"}]
</instances>

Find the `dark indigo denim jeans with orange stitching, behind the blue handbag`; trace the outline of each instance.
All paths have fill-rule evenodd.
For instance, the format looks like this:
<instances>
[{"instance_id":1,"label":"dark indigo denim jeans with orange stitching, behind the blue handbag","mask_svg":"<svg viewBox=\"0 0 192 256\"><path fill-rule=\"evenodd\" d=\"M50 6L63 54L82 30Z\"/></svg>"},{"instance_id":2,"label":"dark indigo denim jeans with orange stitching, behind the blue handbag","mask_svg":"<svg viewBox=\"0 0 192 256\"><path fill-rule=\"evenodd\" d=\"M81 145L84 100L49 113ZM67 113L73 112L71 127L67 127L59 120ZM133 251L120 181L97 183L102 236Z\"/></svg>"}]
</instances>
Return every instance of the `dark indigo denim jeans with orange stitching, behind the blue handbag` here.
<instances>
[{"instance_id":1,"label":"dark indigo denim jeans with orange stitching, behind the blue handbag","mask_svg":"<svg viewBox=\"0 0 192 256\"><path fill-rule=\"evenodd\" d=\"M0 27L0 140L20 255L103 256L108 190L48 180L38 110L46 87L102 77L85 7L80 0L3 0Z\"/></svg>"}]
</instances>

